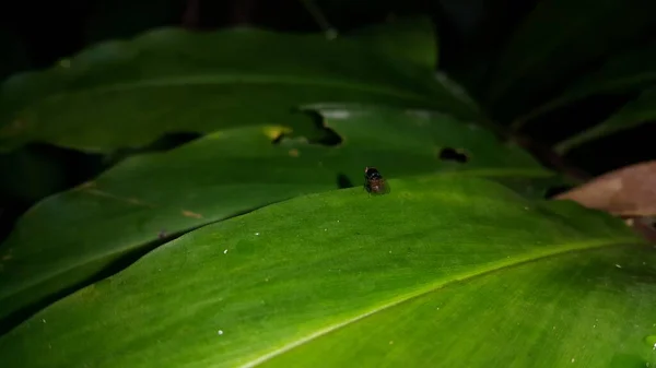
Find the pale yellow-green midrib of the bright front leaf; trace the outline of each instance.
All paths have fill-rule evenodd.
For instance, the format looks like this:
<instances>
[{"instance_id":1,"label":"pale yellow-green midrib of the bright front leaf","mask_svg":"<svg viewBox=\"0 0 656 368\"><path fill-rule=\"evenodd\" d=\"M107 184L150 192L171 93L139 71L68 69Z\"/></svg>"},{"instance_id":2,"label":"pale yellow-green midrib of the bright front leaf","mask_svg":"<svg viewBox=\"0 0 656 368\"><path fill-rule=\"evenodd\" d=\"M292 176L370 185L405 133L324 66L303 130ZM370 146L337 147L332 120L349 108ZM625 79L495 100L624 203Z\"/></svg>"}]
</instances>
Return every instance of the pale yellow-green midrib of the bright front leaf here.
<instances>
[{"instance_id":1,"label":"pale yellow-green midrib of the bright front leaf","mask_svg":"<svg viewBox=\"0 0 656 368\"><path fill-rule=\"evenodd\" d=\"M449 286L449 285L458 283L458 282L469 281L475 277L484 276L485 274L489 274L489 273L499 272L504 269L519 266L525 263L530 263L530 262L539 261L539 260L551 258L551 257L559 257L559 256L563 256L563 254L567 254L567 253L572 253L572 252L590 251L590 250L596 250L599 248L624 247L630 244L634 244L636 241L639 241L639 239L636 237L625 236L625 237L621 237L621 238L614 238L614 239L612 239L612 241L604 239L604 240L595 240L595 241L579 242L579 244L574 244L574 245L560 246L560 247L555 247L555 248L544 247L544 248L540 248L539 251L528 252L528 253L522 254L519 257L512 258L509 260L503 259L497 262L492 262L492 263L485 264L484 266L482 266L478 270L456 274L456 275L450 276L446 281L438 281L438 282L425 285L419 289L406 293L401 296L398 296L395 299L388 300L387 302L385 302L376 308L370 309L361 314L354 316L353 318L351 318L349 320L327 327L317 332L311 333L303 339L290 342L286 345L278 348L278 349L266 353L259 357L251 359L250 361L248 361L246 364L238 366L238 368L257 367L260 364L267 363L268 360L271 360L278 356L281 356L281 355L283 355L296 347L300 347L304 344L311 343L314 340L323 337L331 332L335 332L342 328L347 328L347 327L349 327L353 323L356 323L360 320L363 320L367 317L371 317L378 312L383 312L385 310L400 306L405 302L409 302L415 298L425 296L430 293L437 292L441 288L444 288L446 286Z\"/></svg>"}]
</instances>

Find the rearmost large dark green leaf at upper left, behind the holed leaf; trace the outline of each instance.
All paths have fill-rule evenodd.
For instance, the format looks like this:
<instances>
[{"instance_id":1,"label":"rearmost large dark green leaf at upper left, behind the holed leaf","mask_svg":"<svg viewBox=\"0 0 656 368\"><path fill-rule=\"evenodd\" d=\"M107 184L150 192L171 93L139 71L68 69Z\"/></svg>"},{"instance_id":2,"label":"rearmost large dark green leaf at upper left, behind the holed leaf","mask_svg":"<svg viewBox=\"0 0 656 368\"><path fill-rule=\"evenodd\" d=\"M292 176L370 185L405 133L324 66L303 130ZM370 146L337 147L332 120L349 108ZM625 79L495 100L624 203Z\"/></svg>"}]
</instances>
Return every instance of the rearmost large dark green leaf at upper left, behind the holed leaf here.
<instances>
[{"instance_id":1,"label":"rearmost large dark green leaf at upper left, behind the holed leaf","mask_svg":"<svg viewBox=\"0 0 656 368\"><path fill-rule=\"evenodd\" d=\"M396 28L390 27L378 32L391 37ZM208 133L279 121L298 130L307 119L292 110L327 102L478 118L476 108L417 62L414 51L393 57L382 43L367 46L372 37L327 40L250 28L202 34L164 28L104 43L2 85L0 147L37 140L108 152L142 146L165 132Z\"/></svg>"}]
</instances>

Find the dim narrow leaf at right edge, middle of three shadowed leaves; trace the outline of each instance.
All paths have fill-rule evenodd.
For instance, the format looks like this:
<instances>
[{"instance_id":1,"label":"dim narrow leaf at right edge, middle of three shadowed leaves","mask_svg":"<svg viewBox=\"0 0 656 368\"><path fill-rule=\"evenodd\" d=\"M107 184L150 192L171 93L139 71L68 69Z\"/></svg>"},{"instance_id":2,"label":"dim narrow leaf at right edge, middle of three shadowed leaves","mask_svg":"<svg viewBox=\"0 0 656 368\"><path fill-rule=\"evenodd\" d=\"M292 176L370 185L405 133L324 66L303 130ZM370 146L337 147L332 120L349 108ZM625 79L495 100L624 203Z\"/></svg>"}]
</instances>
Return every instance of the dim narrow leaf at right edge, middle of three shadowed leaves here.
<instances>
[{"instance_id":1,"label":"dim narrow leaf at right edge, middle of three shadowed leaves","mask_svg":"<svg viewBox=\"0 0 656 368\"><path fill-rule=\"evenodd\" d=\"M585 75L560 95L513 122L515 129L528 120L596 94L623 93L656 83L656 45L610 58L599 70ZM640 91L640 90L639 90Z\"/></svg>"}]
</instances>

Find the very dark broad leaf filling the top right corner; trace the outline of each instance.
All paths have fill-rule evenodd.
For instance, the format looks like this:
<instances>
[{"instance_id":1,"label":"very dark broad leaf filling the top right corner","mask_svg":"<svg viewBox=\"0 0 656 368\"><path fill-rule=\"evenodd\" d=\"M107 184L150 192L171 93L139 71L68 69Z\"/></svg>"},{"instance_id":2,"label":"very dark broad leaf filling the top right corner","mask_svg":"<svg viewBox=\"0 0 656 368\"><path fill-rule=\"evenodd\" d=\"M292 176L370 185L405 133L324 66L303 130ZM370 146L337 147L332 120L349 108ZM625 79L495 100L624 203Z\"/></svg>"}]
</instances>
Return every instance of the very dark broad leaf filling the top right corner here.
<instances>
[{"instance_id":1,"label":"very dark broad leaf filling the top right corner","mask_svg":"<svg viewBox=\"0 0 656 368\"><path fill-rule=\"evenodd\" d=\"M654 12L656 2L645 0L540 1L491 71L487 104L515 117L528 112L536 98L653 29Z\"/></svg>"}]
</instances>

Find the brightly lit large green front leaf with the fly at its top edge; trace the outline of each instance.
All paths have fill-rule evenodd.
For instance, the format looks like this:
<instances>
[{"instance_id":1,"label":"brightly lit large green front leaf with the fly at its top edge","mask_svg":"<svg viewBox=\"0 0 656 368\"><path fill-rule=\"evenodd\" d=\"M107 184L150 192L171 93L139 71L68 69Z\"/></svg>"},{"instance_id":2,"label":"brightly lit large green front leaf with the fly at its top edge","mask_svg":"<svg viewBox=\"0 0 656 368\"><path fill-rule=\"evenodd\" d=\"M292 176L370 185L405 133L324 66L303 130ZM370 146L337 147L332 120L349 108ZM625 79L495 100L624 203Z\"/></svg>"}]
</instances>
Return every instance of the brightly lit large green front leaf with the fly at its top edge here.
<instances>
[{"instance_id":1,"label":"brightly lit large green front leaf with the fly at its top edge","mask_svg":"<svg viewBox=\"0 0 656 368\"><path fill-rule=\"evenodd\" d=\"M572 202L457 176L207 226L0 337L8 366L645 367L656 253Z\"/></svg>"}]
</instances>

